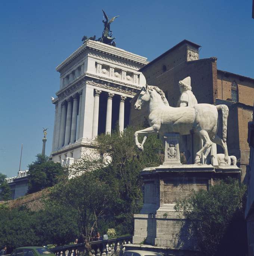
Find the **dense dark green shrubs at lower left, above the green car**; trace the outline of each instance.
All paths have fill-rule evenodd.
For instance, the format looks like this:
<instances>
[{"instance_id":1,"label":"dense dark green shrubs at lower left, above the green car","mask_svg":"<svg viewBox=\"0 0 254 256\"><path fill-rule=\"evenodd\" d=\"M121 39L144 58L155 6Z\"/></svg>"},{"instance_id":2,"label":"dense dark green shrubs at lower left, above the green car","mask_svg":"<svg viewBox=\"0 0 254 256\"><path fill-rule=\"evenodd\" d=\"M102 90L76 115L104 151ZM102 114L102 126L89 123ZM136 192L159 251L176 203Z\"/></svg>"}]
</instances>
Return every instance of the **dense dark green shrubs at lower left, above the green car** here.
<instances>
[{"instance_id":1,"label":"dense dark green shrubs at lower left, above the green car","mask_svg":"<svg viewBox=\"0 0 254 256\"><path fill-rule=\"evenodd\" d=\"M76 213L69 208L34 212L25 207L0 208L0 241L12 251L21 246L68 244L78 234Z\"/></svg>"}]
</instances>

